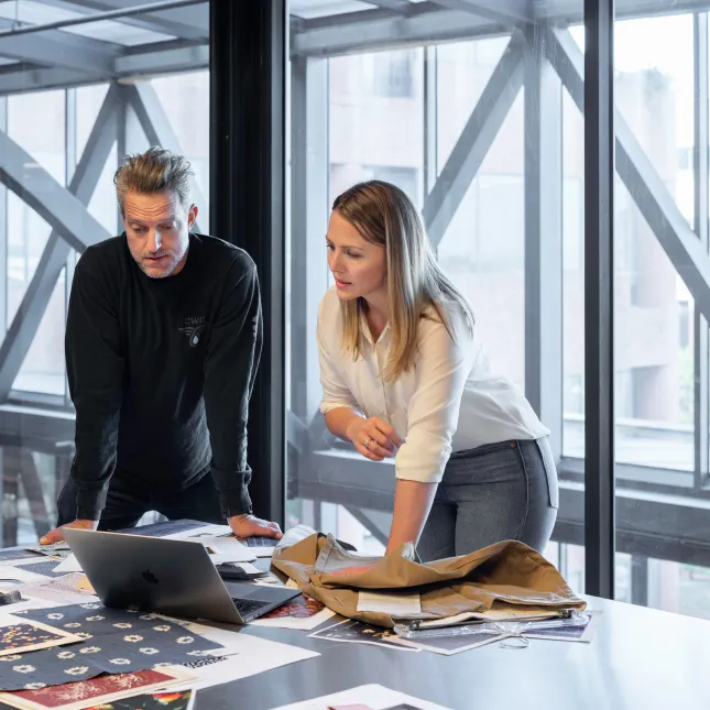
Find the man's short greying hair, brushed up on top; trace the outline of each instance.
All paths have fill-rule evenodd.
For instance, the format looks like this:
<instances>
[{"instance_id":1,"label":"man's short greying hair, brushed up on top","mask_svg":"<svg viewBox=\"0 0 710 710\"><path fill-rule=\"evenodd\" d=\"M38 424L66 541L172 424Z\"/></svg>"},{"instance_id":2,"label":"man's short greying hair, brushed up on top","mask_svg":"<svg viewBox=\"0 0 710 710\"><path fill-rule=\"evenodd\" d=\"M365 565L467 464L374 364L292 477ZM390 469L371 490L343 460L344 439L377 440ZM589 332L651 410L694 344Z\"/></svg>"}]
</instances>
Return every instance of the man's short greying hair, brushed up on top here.
<instances>
[{"instance_id":1,"label":"man's short greying hair, brushed up on top","mask_svg":"<svg viewBox=\"0 0 710 710\"><path fill-rule=\"evenodd\" d=\"M190 164L182 155L164 148L149 148L145 153L134 153L123 159L113 175L116 196L121 215L124 215L125 194L155 195L171 192L181 204L189 206Z\"/></svg>"}]
</instances>

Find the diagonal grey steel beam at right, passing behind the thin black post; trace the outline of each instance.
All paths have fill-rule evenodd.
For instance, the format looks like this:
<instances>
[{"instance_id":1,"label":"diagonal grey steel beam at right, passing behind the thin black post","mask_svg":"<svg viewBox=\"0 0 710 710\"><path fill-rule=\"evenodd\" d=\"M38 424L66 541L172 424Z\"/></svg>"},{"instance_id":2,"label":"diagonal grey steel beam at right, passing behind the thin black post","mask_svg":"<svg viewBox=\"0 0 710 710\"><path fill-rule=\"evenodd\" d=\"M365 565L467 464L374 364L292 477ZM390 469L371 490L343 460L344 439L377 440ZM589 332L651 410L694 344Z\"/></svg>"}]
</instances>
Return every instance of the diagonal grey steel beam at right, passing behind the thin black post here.
<instances>
[{"instance_id":1,"label":"diagonal grey steel beam at right, passing behind the thin black post","mask_svg":"<svg viewBox=\"0 0 710 710\"><path fill-rule=\"evenodd\" d=\"M585 110L583 56L568 31L549 32L548 58L562 84ZM710 259L676 201L619 111L614 114L616 172L638 210L676 267L696 307L710 318Z\"/></svg>"}]
</instances>

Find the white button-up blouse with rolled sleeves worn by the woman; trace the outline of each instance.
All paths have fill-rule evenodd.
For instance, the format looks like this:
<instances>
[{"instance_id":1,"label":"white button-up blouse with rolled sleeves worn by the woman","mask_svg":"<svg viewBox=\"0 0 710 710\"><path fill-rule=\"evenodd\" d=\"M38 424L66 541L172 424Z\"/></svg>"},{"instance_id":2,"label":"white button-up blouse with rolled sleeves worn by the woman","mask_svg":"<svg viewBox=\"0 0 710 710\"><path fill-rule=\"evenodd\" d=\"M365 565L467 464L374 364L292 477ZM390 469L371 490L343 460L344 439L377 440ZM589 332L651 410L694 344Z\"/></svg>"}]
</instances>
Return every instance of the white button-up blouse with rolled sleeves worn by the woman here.
<instances>
[{"instance_id":1,"label":"white button-up blouse with rolled sleeves worn by the woman","mask_svg":"<svg viewBox=\"0 0 710 710\"><path fill-rule=\"evenodd\" d=\"M380 372L387 362L390 326L372 342L363 317L363 357L353 360L342 350L335 287L318 309L320 412L350 407L389 422L403 440L395 458L401 479L437 483L451 451L549 434L523 393L491 371L460 306L454 302L444 306L455 338L444 324L422 318L414 368L387 383Z\"/></svg>"}]
</instances>

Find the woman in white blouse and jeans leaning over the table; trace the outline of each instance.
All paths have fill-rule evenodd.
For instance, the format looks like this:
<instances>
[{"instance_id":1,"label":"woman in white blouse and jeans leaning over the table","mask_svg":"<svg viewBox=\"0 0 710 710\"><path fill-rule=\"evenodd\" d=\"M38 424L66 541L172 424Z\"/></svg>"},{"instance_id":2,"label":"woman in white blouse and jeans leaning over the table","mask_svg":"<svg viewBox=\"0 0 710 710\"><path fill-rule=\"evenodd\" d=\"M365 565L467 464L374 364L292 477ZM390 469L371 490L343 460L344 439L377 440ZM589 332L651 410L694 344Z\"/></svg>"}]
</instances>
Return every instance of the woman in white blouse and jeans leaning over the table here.
<instances>
[{"instance_id":1,"label":"woman in white blouse and jeans leaning over the table","mask_svg":"<svg viewBox=\"0 0 710 710\"><path fill-rule=\"evenodd\" d=\"M502 539L543 550L558 506L549 432L491 370L414 205L394 185L356 185L326 241L336 285L318 313L320 411L363 457L395 459L386 551L414 542L426 561Z\"/></svg>"}]
</instances>

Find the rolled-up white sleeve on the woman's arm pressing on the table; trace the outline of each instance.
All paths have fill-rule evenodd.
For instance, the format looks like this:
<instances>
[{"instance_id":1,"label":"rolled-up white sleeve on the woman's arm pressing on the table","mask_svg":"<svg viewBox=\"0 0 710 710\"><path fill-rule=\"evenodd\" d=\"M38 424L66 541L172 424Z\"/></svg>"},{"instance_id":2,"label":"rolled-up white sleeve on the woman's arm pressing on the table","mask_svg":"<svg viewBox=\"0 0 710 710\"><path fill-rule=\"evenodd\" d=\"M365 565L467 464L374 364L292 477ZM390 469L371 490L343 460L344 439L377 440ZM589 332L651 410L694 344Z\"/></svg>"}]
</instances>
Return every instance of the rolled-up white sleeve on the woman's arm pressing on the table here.
<instances>
[{"instance_id":1,"label":"rolled-up white sleeve on the woman's arm pressing on the table","mask_svg":"<svg viewBox=\"0 0 710 710\"><path fill-rule=\"evenodd\" d=\"M451 439L473 359L473 334L461 320L423 326L416 358L416 390L409 401L405 443L395 459L396 477L438 483L451 456Z\"/></svg>"}]
</instances>

